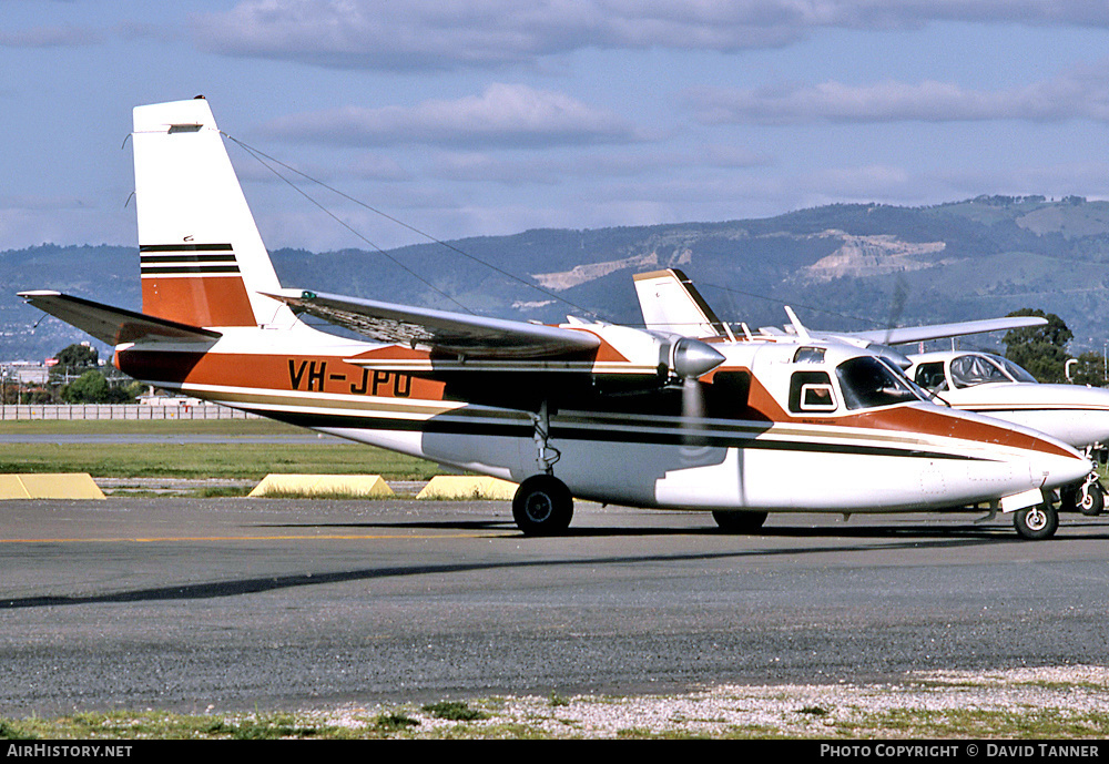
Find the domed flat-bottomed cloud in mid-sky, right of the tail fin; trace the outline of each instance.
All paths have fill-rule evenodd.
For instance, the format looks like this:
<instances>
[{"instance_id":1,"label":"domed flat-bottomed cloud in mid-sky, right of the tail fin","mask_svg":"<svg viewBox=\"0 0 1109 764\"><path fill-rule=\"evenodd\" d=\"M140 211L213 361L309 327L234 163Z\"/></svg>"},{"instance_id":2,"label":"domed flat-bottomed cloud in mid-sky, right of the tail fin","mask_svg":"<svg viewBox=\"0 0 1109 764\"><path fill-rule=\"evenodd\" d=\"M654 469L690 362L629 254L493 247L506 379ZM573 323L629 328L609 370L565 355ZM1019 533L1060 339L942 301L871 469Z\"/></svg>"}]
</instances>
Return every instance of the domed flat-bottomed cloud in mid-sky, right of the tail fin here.
<instances>
[{"instance_id":1,"label":"domed flat-bottomed cloud in mid-sky, right of the tail fin","mask_svg":"<svg viewBox=\"0 0 1109 764\"><path fill-rule=\"evenodd\" d=\"M415 106L294 114L263 131L275 137L346 145L573 145L637 140L613 112L564 93L527 85L489 85L480 95Z\"/></svg>"}]
</instances>

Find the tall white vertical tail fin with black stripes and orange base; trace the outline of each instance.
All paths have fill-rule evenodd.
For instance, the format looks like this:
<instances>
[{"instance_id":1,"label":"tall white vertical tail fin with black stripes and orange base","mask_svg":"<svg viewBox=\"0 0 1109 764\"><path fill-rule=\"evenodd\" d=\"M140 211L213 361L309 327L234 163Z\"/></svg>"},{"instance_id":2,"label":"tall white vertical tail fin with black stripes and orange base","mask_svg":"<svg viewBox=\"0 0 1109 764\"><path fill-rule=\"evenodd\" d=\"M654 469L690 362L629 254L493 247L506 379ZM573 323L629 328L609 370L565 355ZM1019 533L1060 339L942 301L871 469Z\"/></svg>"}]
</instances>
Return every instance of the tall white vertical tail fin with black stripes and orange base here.
<instances>
[{"instance_id":1,"label":"tall white vertical tail fin with black stripes and orange base","mask_svg":"<svg viewBox=\"0 0 1109 764\"><path fill-rule=\"evenodd\" d=\"M207 101L134 110L143 312L193 326L291 325Z\"/></svg>"}]
</instances>

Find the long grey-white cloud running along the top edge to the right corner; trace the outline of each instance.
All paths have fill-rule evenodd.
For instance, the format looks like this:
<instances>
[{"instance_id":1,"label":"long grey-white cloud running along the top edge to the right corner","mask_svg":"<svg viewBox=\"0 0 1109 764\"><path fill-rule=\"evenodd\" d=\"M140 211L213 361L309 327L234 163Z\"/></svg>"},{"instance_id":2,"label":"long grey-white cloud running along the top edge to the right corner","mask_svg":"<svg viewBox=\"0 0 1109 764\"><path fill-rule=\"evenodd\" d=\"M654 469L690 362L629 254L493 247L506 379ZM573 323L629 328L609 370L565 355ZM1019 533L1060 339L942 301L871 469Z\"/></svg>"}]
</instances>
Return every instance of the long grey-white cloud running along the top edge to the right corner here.
<instances>
[{"instance_id":1,"label":"long grey-white cloud running along the top edge to the right corner","mask_svg":"<svg viewBox=\"0 0 1109 764\"><path fill-rule=\"evenodd\" d=\"M1088 0L244 0L194 19L218 53L349 69L500 65L586 48L736 51L820 28L1109 26Z\"/></svg>"}]
</instances>

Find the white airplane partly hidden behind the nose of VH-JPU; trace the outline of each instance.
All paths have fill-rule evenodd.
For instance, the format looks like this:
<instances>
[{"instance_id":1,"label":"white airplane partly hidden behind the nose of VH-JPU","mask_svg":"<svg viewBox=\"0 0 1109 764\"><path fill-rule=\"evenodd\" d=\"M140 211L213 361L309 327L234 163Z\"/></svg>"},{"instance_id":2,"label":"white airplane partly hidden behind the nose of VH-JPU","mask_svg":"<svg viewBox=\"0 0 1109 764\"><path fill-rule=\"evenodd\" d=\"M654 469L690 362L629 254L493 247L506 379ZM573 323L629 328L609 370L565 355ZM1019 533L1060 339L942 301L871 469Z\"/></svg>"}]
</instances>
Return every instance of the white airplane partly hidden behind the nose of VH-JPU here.
<instances>
[{"instance_id":1,"label":"white airplane partly hidden behind the nose of VH-JPU","mask_svg":"<svg viewBox=\"0 0 1109 764\"><path fill-rule=\"evenodd\" d=\"M908 356L909 378L960 411L1047 432L1105 462L1109 446L1109 389L1037 381L1008 358L978 350L946 350ZM1105 509L1097 471L1060 490L1065 510L1095 517Z\"/></svg>"}]
</instances>

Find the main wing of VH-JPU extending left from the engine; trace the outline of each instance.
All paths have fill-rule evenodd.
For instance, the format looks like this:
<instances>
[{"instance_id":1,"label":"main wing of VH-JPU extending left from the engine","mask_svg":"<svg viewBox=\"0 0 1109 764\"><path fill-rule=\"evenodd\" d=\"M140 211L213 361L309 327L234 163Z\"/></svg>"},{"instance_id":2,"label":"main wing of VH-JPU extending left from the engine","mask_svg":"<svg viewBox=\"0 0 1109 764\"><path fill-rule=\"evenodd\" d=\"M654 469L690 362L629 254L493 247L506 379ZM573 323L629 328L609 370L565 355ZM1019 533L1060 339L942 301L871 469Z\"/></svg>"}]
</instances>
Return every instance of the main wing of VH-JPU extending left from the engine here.
<instances>
[{"instance_id":1,"label":"main wing of VH-JPU extending left from the engine","mask_svg":"<svg viewBox=\"0 0 1109 764\"><path fill-rule=\"evenodd\" d=\"M267 296L377 342L423 345L467 358L542 358L596 350L601 344L588 332L322 292L282 291Z\"/></svg>"}]
</instances>

